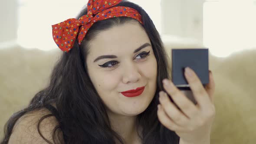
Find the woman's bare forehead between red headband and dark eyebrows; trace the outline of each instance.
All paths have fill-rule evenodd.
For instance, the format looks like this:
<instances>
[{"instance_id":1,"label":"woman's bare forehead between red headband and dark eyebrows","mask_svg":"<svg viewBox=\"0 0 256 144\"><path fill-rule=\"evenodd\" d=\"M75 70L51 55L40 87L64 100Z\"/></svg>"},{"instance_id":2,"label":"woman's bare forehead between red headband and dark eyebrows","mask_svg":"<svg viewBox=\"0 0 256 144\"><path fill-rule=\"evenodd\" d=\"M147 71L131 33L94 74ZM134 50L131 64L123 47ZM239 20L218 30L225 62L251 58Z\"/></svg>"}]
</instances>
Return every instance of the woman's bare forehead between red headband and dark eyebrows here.
<instances>
[{"instance_id":1,"label":"woman's bare forehead between red headband and dark eyebrows","mask_svg":"<svg viewBox=\"0 0 256 144\"><path fill-rule=\"evenodd\" d=\"M90 42L90 55L130 52L144 43L150 43L139 23L125 23L98 33Z\"/></svg>"}]
</instances>

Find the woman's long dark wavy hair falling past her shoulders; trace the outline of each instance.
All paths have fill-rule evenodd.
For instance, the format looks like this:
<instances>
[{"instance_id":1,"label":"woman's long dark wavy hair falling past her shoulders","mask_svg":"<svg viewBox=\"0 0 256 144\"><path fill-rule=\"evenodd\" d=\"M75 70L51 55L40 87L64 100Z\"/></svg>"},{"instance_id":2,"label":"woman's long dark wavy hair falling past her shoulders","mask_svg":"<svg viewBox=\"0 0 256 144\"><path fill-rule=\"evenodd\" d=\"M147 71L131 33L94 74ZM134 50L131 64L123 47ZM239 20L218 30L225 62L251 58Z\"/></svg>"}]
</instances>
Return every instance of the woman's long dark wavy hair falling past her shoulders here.
<instances>
[{"instance_id":1,"label":"woman's long dark wavy hair falling past her shoulders","mask_svg":"<svg viewBox=\"0 0 256 144\"><path fill-rule=\"evenodd\" d=\"M174 131L165 128L157 116L157 105L159 104L158 92L164 90L162 79L170 79L170 65L168 56L163 47L160 35L155 28L148 14L138 5L123 0L116 6L131 7L142 16L142 21L146 33L151 40L152 48L158 64L157 89L155 96L148 108L138 115L136 124L142 127L139 134L143 144L178 144L179 137ZM87 7L76 17L87 14ZM53 140L57 138L56 130L61 130L66 144L115 144L115 139L124 144L123 138L112 130L108 115L103 105L102 99L97 94L88 75L86 66L86 56L89 52L89 41L102 30L109 29L116 25L121 25L134 20L130 17L115 17L101 20L93 24L82 41L81 46L75 39L74 47L68 53L63 52L56 62L50 76L49 85L36 93L30 104L25 109L14 113L7 121L4 128L4 138L1 144L7 144L16 121L30 111L37 111L52 103L56 103L59 110L61 123L53 130ZM43 116L38 124L47 117ZM45 137L45 141L51 144Z\"/></svg>"}]
</instances>

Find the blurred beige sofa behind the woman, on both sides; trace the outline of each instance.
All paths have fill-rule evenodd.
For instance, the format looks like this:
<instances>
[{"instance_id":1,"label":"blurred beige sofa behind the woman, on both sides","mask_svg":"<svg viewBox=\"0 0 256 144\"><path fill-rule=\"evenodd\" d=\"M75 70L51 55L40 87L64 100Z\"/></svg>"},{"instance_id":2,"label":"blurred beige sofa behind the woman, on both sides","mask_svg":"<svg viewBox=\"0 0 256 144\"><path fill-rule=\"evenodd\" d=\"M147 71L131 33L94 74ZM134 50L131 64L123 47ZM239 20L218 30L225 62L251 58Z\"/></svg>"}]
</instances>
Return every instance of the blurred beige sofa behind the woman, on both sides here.
<instances>
[{"instance_id":1,"label":"blurred beige sofa behind the woman, on both sides","mask_svg":"<svg viewBox=\"0 0 256 144\"><path fill-rule=\"evenodd\" d=\"M179 47L165 43L167 51ZM180 46L185 47L185 46ZM26 107L48 82L60 54L15 47L0 49L0 137L13 112ZM209 57L216 82L216 118L211 144L256 143L256 50Z\"/></svg>"}]
</instances>

